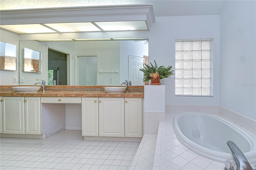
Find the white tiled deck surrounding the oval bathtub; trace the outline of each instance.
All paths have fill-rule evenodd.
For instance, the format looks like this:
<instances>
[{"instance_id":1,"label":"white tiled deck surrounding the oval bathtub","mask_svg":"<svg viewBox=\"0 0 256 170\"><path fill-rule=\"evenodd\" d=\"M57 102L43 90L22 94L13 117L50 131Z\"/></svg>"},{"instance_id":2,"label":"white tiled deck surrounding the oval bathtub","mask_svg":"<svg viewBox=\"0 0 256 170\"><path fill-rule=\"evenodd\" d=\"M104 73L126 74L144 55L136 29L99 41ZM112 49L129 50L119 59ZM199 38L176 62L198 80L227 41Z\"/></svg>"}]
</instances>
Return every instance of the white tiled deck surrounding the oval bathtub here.
<instances>
[{"instance_id":1,"label":"white tiled deck surrounding the oval bathtub","mask_svg":"<svg viewBox=\"0 0 256 170\"><path fill-rule=\"evenodd\" d=\"M177 114L179 113L166 113L166 121L159 124L153 170L223 170L224 163L204 158L180 143L172 127L172 121ZM230 121L220 114L214 115ZM256 138L249 130L246 132ZM253 164L251 166L254 168Z\"/></svg>"}]
</instances>

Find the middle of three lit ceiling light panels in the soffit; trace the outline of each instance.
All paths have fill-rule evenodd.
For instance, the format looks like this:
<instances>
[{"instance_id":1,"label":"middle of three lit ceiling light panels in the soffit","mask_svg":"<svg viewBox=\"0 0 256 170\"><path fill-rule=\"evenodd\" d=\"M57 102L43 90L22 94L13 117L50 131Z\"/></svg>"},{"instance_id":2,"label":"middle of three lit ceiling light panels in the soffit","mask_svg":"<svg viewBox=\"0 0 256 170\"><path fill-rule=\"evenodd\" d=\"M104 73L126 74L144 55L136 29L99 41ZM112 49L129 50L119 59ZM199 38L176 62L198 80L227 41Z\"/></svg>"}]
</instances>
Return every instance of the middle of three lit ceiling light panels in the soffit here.
<instances>
[{"instance_id":1,"label":"middle of three lit ceiling light panels in the soffit","mask_svg":"<svg viewBox=\"0 0 256 170\"><path fill-rule=\"evenodd\" d=\"M92 32L101 31L99 28L94 26L91 22L72 22L72 23L53 23L44 24L59 32Z\"/></svg>"}]
</instances>

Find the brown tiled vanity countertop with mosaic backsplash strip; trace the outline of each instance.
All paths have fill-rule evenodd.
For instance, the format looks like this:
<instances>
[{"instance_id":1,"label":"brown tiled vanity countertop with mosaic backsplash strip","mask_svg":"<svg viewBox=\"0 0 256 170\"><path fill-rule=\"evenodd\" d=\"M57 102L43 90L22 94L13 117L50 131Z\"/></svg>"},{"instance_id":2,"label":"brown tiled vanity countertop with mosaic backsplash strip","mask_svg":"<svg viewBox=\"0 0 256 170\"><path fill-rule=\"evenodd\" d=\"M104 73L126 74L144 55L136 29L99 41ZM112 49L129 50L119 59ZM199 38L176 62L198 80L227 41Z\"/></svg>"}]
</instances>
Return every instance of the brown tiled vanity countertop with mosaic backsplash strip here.
<instances>
[{"instance_id":1,"label":"brown tiled vanity countertop with mosaic backsplash strip","mask_svg":"<svg viewBox=\"0 0 256 170\"><path fill-rule=\"evenodd\" d=\"M0 96L20 97L144 97L144 86L128 86L128 93L106 93L109 86L45 86L35 93L15 93L14 86L0 86Z\"/></svg>"}]
</instances>

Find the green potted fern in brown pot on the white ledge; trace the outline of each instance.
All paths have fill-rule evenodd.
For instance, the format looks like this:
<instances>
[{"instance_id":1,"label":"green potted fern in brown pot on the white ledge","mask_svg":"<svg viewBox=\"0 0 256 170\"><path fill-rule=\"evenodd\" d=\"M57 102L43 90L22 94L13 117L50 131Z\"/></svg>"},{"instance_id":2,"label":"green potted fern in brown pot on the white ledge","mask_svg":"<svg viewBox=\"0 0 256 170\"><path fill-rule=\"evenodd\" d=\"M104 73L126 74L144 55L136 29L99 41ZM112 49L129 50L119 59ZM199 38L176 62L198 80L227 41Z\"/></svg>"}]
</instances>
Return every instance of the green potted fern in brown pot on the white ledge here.
<instances>
[{"instance_id":1,"label":"green potted fern in brown pot on the white ledge","mask_svg":"<svg viewBox=\"0 0 256 170\"><path fill-rule=\"evenodd\" d=\"M160 79L169 78L171 75L174 75L172 66L165 67L161 65L157 66L156 61L154 60L155 65L150 63L149 65L143 64L143 68L140 69L144 73L143 81L147 82L151 79L151 85L160 85Z\"/></svg>"}]
</instances>

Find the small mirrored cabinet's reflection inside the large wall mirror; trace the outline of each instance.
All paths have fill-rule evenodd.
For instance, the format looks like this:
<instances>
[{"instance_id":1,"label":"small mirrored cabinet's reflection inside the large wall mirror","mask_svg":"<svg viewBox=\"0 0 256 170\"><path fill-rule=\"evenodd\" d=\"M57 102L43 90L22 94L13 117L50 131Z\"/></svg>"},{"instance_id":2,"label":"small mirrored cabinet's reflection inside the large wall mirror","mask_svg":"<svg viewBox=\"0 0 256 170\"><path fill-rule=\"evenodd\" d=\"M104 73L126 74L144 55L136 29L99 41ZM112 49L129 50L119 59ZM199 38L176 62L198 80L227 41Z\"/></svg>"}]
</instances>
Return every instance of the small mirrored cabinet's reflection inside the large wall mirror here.
<instances>
[{"instance_id":1,"label":"small mirrored cabinet's reflection inside the large wall mirror","mask_svg":"<svg viewBox=\"0 0 256 170\"><path fill-rule=\"evenodd\" d=\"M41 63L42 52L24 48L24 72L41 73Z\"/></svg>"}]
</instances>

